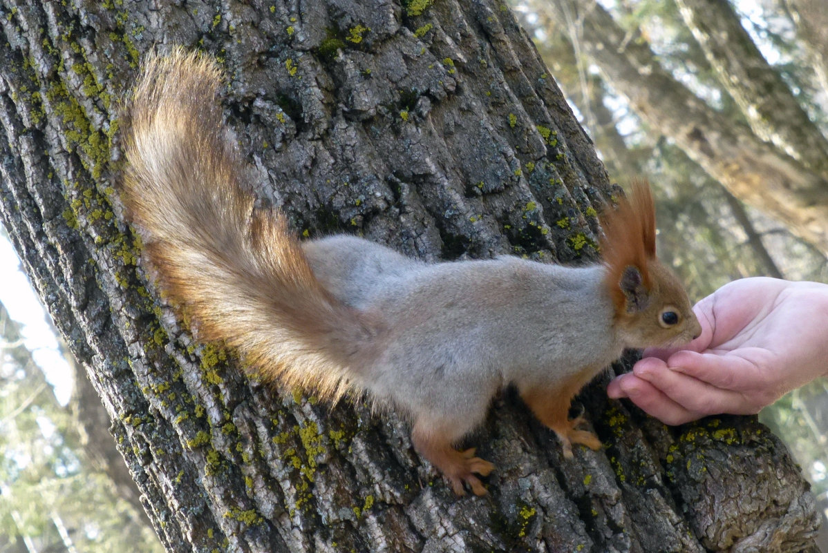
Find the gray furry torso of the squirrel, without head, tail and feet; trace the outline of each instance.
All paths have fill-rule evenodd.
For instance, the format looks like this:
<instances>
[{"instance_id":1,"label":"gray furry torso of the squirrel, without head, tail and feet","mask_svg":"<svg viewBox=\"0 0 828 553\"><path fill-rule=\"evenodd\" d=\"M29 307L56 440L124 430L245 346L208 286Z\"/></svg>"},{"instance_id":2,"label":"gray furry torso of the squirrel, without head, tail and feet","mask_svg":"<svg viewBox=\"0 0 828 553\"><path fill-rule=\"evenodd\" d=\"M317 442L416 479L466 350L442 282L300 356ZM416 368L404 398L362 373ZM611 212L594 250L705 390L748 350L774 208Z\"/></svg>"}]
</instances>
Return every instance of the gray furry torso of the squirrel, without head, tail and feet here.
<instances>
[{"instance_id":1,"label":"gray furry torso of the squirrel, without head, tail and feet","mask_svg":"<svg viewBox=\"0 0 828 553\"><path fill-rule=\"evenodd\" d=\"M411 415L430 413L457 437L482 422L504 384L549 389L584 373L587 381L623 349L601 265L511 256L426 264L354 236L303 247L325 288L387 324L383 353L360 384Z\"/></svg>"}]
</instances>

